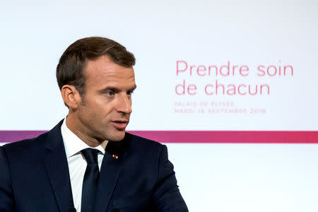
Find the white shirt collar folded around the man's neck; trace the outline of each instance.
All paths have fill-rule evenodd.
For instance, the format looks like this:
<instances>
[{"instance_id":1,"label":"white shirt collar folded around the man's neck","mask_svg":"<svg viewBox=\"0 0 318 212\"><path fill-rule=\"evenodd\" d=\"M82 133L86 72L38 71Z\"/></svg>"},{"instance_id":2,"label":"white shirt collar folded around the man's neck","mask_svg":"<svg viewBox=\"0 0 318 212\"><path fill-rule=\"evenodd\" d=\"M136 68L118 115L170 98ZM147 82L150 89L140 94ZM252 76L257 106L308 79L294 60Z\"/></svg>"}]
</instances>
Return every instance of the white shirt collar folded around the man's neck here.
<instances>
[{"instance_id":1,"label":"white shirt collar folded around the man's neck","mask_svg":"<svg viewBox=\"0 0 318 212\"><path fill-rule=\"evenodd\" d=\"M78 154L84 148L93 148L88 146L84 141L78 138L69 127L66 126L66 118L61 125L61 136L63 138L66 157L70 158L73 155ZM100 151L103 155L105 154L105 149L102 146L96 146L95 149Z\"/></svg>"}]
</instances>

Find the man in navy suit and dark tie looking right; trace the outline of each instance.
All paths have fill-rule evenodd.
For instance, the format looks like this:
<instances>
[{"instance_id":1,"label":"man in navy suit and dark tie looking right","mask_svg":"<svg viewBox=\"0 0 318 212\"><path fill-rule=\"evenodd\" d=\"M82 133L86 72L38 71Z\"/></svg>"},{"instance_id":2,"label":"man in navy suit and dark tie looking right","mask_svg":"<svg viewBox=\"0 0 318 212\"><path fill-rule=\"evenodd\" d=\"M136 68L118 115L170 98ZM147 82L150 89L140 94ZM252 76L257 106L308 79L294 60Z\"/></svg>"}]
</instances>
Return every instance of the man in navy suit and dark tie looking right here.
<instances>
[{"instance_id":1,"label":"man in navy suit and dark tie looking right","mask_svg":"<svg viewBox=\"0 0 318 212\"><path fill-rule=\"evenodd\" d=\"M0 211L188 211L166 146L125 132L134 64L104 37L66 49L57 81L69 114L0 147Z\"/></svg>"}]
</instances>

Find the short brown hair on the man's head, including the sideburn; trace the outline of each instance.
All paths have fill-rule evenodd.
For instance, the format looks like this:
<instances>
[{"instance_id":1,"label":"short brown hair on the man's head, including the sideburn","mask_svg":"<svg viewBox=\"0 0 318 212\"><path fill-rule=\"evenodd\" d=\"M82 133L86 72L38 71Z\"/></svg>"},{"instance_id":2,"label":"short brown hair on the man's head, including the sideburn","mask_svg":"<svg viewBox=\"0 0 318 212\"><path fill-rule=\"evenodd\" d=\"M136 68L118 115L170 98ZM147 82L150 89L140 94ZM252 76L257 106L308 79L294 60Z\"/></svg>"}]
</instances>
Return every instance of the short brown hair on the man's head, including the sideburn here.
<instances>
[{"instance_id":1,"label":"short brown hair on the man's head, including the sideburn","mask_svg":"<svg viewBox=\"0 0 318 212\"><path fill-rule=\"evenodd\" d=\"M83 96L85 94L85 76L83 69L88 60L98 59L107 55L119 66L129 68L134 66L134 54L126 47L106 37L86 37L73 42L62 54L57 65L57 83L59 89L64 85L71 85Z\"/></svg>"}]
</instances>

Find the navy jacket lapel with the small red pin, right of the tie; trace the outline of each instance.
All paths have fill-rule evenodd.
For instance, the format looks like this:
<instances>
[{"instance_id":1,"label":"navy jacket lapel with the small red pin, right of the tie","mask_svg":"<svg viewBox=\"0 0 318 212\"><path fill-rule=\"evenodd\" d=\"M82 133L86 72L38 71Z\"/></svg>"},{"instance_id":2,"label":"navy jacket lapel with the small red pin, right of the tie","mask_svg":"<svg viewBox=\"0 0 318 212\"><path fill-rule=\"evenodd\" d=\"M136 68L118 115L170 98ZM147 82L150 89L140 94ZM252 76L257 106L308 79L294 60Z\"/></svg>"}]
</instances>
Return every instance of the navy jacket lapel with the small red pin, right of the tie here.
<instances>
[{"instance_id":1,"label":"navy jacket lapel with the small red pin, right of the tie","mask_svg":"<svg viewBox=\"0 0 318 212\"><path fill-rule=\"evenodd\" d=\"M107 148L114 147L112 144L122 142L122 141L113 141L107 144ZM116 144L115 144L116 146ZM106 148L106 150L107 150ZM124 146L121 146L121 150ZM116 153L118 158L114 155L116 152L116 148L111 149L110 151L105 152L104 158L102 160L102 167L100 169L100 177L98 179L98 191L96 192L96 201L95 201L95 211L106 211L109 204L112 194L114 192L114 188L117 184L117 180L119 178L120 172L122 170L122 166L124 163L124 158L126 157L126 153L122 152ZM118 151L117 151L118 152Z\"/></svg>"}]
</instances>

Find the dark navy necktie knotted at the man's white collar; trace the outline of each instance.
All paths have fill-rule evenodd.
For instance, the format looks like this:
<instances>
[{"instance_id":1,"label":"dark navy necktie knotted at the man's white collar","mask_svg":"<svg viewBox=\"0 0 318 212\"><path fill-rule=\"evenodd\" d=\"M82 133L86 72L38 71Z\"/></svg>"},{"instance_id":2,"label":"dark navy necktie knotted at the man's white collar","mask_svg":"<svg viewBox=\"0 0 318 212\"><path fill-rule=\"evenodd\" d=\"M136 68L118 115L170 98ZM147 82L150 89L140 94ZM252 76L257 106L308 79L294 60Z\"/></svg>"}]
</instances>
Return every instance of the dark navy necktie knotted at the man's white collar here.
<instances>
[{"instance_id":1,"label":"dark navy necktie knotted at the man's white collar","mask_svg":"<svg viewBox=\"0 0 318 212\"><path fill-rule=\"evenodd\" d=\"M81 151L87 162L87 167L83 179L81 212L93 211L95 204L95 194L98 184L98 150L86 148Z\"/></svg>"}]
</instances>

